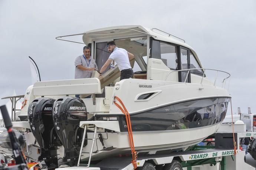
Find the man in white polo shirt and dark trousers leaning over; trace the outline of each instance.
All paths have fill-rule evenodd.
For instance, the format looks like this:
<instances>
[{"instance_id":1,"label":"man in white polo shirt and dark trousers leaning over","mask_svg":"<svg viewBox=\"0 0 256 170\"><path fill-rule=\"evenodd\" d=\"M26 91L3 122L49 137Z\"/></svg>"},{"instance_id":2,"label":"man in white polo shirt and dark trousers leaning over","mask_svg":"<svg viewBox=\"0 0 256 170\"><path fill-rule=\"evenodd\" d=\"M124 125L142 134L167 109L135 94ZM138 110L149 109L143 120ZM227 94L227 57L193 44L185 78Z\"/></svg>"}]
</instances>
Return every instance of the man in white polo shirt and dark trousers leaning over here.
<instances>
[{"instance_id":1,"label":"man in white polo shirt and dark trousers leaning over","mask_svg":"<svg viewBox=\"0 0 256 170\"><path fill-rule=\"evenodd\" d=\"M121 72L120 80L132 78L133 71L130 60L134 58L134 55L123 48L116 47L114 41L109 41L107 43L107 47L108 51L111 52L111 55L109 56L105 64L101 67L101 71L99 71L99 74L102 74L102 72L104 72L108 65L111 64L111 62L114 60Z\"/></svg>"}]
</instances>

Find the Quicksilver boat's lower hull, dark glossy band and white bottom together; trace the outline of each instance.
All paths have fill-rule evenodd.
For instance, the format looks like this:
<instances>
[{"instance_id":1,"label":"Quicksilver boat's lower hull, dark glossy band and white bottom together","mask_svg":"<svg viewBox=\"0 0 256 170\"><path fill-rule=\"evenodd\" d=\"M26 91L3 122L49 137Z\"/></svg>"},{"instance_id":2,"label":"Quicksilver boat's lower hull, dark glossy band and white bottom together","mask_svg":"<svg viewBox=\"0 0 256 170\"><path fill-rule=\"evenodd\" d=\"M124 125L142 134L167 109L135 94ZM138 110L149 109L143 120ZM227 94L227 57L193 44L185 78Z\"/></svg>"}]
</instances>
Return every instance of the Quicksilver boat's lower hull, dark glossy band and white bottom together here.
<instances>
[{"instance_id":1,"label":"Quicksilver boat's lower hull, dark glossy band and white bottom together","mask_svg":"<svg viewBox=\"0 0 256 170\"><path fill-rule=\"evenodd\" d=\"M196 145L217 131L225 118L228 102L229 98L205 98L132 113L130 117L135 150L138 153L160 150L173 152ZM101 142L96 140L92 160L129 154L131 151L124 115L108 113L95 116L97 120L118 120L121 132L100 132L107 149L103 149ZM93 133L89 131L87 134L88 139L92 139ZM91 140L88 140L84 152L89 152L91 145ZM89 154L84 154L82 159L88 157Z\"/></svg>"}]
</instances>

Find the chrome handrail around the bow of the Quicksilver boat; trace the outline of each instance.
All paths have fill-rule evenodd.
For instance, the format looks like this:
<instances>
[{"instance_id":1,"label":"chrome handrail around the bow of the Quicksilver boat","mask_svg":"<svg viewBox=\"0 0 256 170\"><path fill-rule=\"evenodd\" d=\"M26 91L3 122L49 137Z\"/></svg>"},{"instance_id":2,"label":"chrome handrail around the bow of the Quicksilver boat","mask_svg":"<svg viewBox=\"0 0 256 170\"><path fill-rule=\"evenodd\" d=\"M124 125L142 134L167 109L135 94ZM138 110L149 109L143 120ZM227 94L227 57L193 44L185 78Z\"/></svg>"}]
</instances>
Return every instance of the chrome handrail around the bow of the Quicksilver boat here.
<instances>
[{"instance_id":1,"label":"chrome handrail around the bow of the Quicksilver boat","mask_svg":"<svg viewBox=\"0 0 256 170\"><path fill-rule=\"evenodd\" d=\"M221 70L217 70L217 69L210 69L210 68L190 68L190 69L181 69L181 70L170 71L170 72L166 75L165 80L167 80L168 76L169 76L171 73L173 73L173 72L188 71L188 72L187 72L186 79L185 79L185 81L184 81L184 82L186 82L186 81L187 81L187 78L188 78L188 74L190 73L190 70L198 70L198 69L204 70L204 74L203 74L203 76L202 76L202 79L201 79L200 84L202 84L202 82L203 82L203 78L204 78L204 75L205 75L205 71L206 71L206 70L217 71L216 77L215 77L215 80L214 80L214 86L216 85L216 80L217 80L217 76L218 76L218 73L219 73L219 72L223 72L223 73L226 73L226 74L227 74L227 77L224 78L223 81L222 81L222 83L224 83L224 81L225 81L224 86L226 86L226 80L230 77L230 74L229 74L228 72L226 72L226 71L221 71ZM222 87L223 87L223 85L222 85Z\"/></svg>"}]
</instances>

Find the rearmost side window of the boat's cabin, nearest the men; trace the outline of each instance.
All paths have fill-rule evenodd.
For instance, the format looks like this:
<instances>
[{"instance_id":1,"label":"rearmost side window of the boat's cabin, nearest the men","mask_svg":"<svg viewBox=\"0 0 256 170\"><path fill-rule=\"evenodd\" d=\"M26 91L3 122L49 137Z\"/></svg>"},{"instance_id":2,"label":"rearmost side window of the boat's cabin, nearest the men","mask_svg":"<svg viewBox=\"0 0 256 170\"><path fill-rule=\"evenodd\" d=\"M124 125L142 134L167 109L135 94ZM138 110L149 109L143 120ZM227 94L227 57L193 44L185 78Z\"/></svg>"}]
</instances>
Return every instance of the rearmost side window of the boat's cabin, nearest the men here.
<instances>
[{"instance_id":1,"label":"rearmost side window of the boat's cabin, nearest the men","mask_svg":"<svg viewBox=\"0 0 256 170\"><path fill-rule=\"evenodd\" d=\"M152 41L152 58L161 59L170 69L177 68L177 47L160 41Z\"/></svg>"}]
</instances>

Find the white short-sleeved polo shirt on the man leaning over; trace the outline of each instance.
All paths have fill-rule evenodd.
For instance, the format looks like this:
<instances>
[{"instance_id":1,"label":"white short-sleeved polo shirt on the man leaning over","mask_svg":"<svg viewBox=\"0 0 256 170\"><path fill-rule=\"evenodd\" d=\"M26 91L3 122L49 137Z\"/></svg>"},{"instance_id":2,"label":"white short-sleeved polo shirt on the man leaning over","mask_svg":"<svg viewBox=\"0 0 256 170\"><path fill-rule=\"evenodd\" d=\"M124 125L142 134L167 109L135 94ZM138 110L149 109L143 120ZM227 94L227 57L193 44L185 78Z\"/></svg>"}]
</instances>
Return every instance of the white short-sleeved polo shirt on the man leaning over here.
<instances>
[{"instance_id":1,"label":"white short-sleeved polo shirt on the man leaning over","mask_svg":"<svg viewBox=\"0 0 256 170\"><path fill-rule=\"evenodd\" d=\"M124 48L115 47L109 58L113 59L116 62L120 71L132 68L129 61L128 53Z\"/></svg>"}]
</instances>

